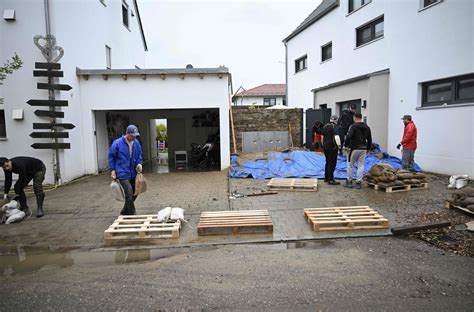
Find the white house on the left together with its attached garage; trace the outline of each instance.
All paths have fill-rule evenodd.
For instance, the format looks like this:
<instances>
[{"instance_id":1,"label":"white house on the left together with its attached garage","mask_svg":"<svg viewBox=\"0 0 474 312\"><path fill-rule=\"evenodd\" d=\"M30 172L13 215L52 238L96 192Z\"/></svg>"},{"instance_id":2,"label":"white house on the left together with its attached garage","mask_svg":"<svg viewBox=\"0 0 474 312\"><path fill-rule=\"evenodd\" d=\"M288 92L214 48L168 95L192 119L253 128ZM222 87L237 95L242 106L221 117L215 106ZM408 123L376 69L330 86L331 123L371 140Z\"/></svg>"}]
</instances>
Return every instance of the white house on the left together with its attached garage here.
<instances>
[{"instance_id":1,"label":"white house on the left together with its attached garage","mask_svg":"<svg viewBox=\"0 0 474 312\"><path fill-rule=\"evenodd\" d=\"M34 111L48 108L26 104L29 99L48 98L47 90L36 86L47 78L33 77L35 62L45 62L33 37L44 36L49 25L64 49L59 61L64 77L56 83L73 88L56 92L57 100L68 101L58 122L75 125L68 130L69 138L61 139L71 143L70 149L59 153L62 181L105 169L111 136L119 136L125 122L139 127L144 158L156 156L152 123L158 118L168 119L170 154L189 150L190 143L203 143L220 131L220 165L229 165L228 69L144 69L147 45L136 0L2 0L0 13L0 61L17 53L24 62L0 86L4 98L0 118L6 128L0 138L1 156L40 158L47 166L47 182L53 181L53 151L31 147L51 140L29 136L33 123L50 120ZM24 118L13 119L14 110L23 110ZM213 127L193 127L196 116L206 114L218 116Z\"/></svg>"}]
</instances>

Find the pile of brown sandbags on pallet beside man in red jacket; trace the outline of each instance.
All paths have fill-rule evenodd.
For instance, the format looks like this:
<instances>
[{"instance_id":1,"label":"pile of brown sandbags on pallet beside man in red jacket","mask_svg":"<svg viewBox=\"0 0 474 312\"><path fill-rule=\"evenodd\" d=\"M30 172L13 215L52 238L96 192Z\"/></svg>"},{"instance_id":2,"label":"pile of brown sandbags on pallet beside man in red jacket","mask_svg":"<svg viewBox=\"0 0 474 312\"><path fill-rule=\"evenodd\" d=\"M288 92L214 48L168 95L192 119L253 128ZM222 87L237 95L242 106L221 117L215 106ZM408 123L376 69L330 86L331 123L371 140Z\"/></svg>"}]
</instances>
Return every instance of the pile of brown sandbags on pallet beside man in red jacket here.
<instances>
[{"instance_id":1,"label":"pile of brown sandbags on pallet beside man in red jacket","mask_svg":"<svg viewBox=\"0 0 474 312\"><path fill-rule=\"evenodd\" d=\"M427 183L427 177L421 172L409 172L406 170L396 170L389 164L376 164L367 172L365 180L382 187L419 185Z\"/></svg>"}]
</instances>

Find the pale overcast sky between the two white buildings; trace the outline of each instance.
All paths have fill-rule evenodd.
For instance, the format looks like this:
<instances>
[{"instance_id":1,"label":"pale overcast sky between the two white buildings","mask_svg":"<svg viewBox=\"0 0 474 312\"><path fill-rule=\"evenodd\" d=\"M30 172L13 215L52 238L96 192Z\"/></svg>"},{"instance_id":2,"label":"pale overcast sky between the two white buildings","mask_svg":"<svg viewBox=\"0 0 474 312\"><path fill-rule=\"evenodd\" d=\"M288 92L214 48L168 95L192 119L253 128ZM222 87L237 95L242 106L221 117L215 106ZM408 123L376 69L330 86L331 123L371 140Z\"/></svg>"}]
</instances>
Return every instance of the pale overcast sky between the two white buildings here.
<instances>
[{"instance_id":1,"label":"pale overcast sky between the two white buildings","mask_svg":"<svg viewBox=\"0 0 474 312\"><path fill-rule=\"evenodd\" d=\"M234 91L285 82L289 35L321 2L139 0L149 47L148 68L217 67L232 73Z\"/></svg>"}]
</instances>

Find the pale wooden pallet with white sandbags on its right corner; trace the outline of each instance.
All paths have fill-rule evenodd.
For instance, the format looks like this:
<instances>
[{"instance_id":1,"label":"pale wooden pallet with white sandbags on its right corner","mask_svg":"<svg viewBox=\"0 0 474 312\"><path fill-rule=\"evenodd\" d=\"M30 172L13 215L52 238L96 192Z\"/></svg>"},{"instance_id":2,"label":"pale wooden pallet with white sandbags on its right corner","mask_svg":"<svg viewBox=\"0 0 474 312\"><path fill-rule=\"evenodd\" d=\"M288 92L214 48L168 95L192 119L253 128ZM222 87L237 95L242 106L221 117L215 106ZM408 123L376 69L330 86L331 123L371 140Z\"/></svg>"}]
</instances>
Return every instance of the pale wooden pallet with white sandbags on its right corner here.
<instances>
[{"instance_id":1,"label":"pale wooden pallet with white sandbags on its right corner","mask_svg":"<svg viewBox=\"0 0 474 312\"><path fill-rule=\"evenodd\" d=\"M104 232L105 241L178 238L181 222L160 223L157 215L119 216Z\"/></svg>"}]
</instances>

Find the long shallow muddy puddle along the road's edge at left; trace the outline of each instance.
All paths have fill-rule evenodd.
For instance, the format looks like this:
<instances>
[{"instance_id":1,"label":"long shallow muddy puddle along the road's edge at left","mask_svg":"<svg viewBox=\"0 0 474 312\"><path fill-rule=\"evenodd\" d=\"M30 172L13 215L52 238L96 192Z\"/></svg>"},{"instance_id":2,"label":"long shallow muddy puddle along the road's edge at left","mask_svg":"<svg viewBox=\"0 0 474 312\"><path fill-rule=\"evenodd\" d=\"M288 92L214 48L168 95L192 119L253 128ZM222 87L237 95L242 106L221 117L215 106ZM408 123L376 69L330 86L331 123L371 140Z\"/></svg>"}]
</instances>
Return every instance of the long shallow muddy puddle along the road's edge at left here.
<instances>
[{"instance_id":1,"label":"long shallow muddy puddle along the road's edge at left","mask_svg":"<svg viewBox=\"0 0 474 312\"><path fill-rule=\"evenodd\" d=\"M153 261L184 253L182 248L134 249L115 251L51 250L47 248L17 248L0 256L0 275L38 271L43 268L67 268L73 265L108 265Z\"/></svg>"}]
</instances>

